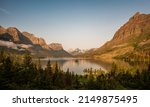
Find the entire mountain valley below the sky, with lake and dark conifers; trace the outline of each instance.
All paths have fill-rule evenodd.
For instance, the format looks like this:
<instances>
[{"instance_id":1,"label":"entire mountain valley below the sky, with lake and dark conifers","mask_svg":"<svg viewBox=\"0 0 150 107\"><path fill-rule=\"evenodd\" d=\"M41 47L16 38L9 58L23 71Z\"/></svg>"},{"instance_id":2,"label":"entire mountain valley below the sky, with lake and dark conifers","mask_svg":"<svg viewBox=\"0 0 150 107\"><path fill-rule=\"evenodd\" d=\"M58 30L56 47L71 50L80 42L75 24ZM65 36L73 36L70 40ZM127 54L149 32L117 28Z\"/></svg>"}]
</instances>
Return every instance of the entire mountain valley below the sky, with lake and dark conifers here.
<instances>
[{"instance_id":1,"label":"entire mountain valley below the sky, with lake and dark conifers","mask_svg":"<svg viewBox=\"0 0 150 107\"><path fill-rule=\"evenodd\" d=\"M135 13L101 47L63 49L0 26L0 89L150 89L150 14Z\"/></svg>"}]
</instances>

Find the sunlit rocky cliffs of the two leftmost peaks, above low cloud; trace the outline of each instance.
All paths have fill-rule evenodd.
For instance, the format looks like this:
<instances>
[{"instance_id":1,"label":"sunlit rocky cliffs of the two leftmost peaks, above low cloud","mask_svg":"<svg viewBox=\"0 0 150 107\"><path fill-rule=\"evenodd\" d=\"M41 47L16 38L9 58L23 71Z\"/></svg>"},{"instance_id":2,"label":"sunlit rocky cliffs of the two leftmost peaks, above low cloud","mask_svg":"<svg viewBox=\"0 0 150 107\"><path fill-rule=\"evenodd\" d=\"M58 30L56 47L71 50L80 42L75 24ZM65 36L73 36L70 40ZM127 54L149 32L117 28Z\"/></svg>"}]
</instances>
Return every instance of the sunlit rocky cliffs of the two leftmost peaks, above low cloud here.
<instances>
[{"instance_id":1,"label":"sunlit rocky cliffs of the two leftmost peaks, above low cloud","mask_svg":"<svg viewBox=\"0 0 150 107\"><path fill-rule=\"evenodd\" d=\"M0 27L0 39L12 41L14 43L40 45L43 48L49 49L49 46L46 44L43 38L38 38L28 32L21 33L15 27L9 27L7 29Z\"/></svg>"}]
</instances>

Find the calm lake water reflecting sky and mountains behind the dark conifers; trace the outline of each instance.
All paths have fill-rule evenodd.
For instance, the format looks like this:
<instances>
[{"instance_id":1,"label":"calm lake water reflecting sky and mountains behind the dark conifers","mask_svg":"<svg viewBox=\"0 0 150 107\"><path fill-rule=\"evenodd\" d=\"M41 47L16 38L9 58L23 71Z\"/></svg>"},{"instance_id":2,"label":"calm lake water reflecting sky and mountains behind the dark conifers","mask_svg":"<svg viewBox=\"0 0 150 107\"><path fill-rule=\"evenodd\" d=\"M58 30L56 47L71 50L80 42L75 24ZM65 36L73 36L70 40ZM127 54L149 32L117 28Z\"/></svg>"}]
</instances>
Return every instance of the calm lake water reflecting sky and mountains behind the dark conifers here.
<instances>
[{"instance_id":1,"label":"calm lake water reflecting sky and mountains behind the dark conifers","mask_svg":"<svg viewBox=\"0 0 150 107\"><path fill-rule=\"evenodd\" d=\"M46 68L48 60L51 61L51 65L54 66L56 62L58 63L58 66L63 70L64 72L69 69L70 72L74 72L75 74L82 75L84 69L93 69L93 70L103 70L105 72L109 72L112 67L112 62L107 63L100 60L95 59L77 59L77 58L44 58L40 59L41 65L43 68ZM34 60L36 63L38 63L38 60ZM114 60L115 64L117 64L118 67L124 68L124 69L143 69L147 67L147 64L144 63L137 63L137 64L129 64L124 61Z\"/></svg>"}]
</instances>

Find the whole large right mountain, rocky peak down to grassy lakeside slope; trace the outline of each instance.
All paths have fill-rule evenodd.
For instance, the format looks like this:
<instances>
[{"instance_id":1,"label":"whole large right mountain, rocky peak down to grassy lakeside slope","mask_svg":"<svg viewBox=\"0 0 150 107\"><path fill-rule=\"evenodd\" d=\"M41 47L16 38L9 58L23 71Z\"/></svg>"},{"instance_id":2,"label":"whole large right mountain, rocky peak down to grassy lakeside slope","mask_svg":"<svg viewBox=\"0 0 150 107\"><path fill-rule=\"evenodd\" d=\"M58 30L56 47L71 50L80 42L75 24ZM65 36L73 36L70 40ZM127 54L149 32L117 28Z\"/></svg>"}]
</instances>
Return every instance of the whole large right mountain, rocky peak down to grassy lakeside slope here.
<instances>
[{"instance_id":1,"label":"whole large right mountain, rocky peak down to grassy lakeside slope","mask_svg":"<svg viewBox=\"0 0 150 107\"><path fill-rule=\"evenodd\" d=\"M104 60L150 56L150 14L137 12L110 41L85 55Z\"/></svg>"}]
</instances>

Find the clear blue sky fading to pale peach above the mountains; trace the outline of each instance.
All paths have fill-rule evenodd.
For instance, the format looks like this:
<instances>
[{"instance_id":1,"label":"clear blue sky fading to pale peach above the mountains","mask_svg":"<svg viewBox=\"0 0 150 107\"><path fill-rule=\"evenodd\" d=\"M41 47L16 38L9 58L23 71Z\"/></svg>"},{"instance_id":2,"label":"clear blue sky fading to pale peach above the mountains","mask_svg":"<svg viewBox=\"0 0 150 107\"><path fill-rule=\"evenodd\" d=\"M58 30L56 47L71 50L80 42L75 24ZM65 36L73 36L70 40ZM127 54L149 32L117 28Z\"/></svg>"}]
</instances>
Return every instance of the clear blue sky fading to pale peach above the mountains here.
<instances>
[{"instance_id":1,"label":"clear blue sky fading to pale peach above the mountains","mask_svg":"<svg viewBox=\"0 0 150 107\"><path fill-rule=\"evenodd\" d=\"M0 0L0 25L61 43L64 49L98 48L150 0Z\"/></svg>"}]
</instances>

